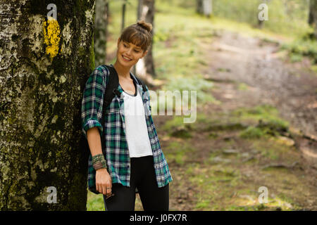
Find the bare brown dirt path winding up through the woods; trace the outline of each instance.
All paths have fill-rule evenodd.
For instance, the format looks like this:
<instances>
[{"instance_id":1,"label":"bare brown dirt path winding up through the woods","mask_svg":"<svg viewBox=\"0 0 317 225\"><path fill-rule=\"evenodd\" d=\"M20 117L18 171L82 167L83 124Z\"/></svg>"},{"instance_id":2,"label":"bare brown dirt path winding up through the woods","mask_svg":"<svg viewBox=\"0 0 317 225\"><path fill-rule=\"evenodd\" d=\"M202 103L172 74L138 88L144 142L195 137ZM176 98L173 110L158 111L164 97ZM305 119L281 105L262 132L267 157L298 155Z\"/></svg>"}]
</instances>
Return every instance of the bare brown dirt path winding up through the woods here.
<instances>
[{"instance_id":1,"label":"bare brown dirt path winding up through the woods","mask_svg":"<svg viewBox=\"0 0 317 225\"><path fill-rule=\"evenodd\" d=\"M252 94L235 98L243 106L267 103L307 139L298 141L309 162L317 161L317 76L305 63L285 63L278 44L241 34L222 32L208 49L206 76L225 82L242 82ZM237 96L236 96L237 97Z\"/></svg>"}]
</instances>

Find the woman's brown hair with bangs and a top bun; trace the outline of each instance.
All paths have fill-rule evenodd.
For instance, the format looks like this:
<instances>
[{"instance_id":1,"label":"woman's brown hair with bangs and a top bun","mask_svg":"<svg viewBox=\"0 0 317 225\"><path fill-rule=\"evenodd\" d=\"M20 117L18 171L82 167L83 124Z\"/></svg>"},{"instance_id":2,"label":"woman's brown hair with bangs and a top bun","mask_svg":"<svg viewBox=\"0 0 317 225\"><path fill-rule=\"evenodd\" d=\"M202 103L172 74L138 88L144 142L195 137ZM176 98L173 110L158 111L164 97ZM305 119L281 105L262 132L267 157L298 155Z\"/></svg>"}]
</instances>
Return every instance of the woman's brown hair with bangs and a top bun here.
<instances>
[{"instance_id":1,"label":"woman's brown hair with bangs and a top bun","mask_svg":"<svg viewBox=\"0 0 317 225\"><path fill-rule=\"evenodd\" d=\"M147 51L152 41L152 25L145 23L144 20L139 20L137 23L125 27L120 40L139 46L143 51Z\"/></svg>"}]
</instances>

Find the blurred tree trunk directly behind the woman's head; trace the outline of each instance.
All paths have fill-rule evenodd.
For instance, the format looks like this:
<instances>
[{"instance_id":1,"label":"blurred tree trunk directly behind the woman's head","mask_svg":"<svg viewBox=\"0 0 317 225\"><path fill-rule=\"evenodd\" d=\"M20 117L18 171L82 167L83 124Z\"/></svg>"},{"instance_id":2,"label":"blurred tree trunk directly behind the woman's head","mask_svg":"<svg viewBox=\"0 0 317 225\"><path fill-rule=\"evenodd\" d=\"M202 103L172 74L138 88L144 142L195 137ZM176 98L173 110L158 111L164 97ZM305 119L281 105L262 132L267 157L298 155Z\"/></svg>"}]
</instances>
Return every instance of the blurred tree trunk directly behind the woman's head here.
<instances>
[{"instance_id":1,"label":"blurred tree trunk directly behind the woman's head","mask_svg":"<svg viewBox=\"0 0 317 225\"><path fill-rule=\"evenodd\" d=\"M154 0L139 0L138 6L138 20L144 20L147 23L151 23L153 29L151 30L151 34L154 35L154 13L155 13L155 1ZM149 46L147 56L144 56L137 62L135 70L136 74L139 75L140 78L144 79L144 82L153 86L153 77L156 77L155 67L154 67L154 58L152 53L153 39L151 46Z\"/></svg>"}]
</instances>

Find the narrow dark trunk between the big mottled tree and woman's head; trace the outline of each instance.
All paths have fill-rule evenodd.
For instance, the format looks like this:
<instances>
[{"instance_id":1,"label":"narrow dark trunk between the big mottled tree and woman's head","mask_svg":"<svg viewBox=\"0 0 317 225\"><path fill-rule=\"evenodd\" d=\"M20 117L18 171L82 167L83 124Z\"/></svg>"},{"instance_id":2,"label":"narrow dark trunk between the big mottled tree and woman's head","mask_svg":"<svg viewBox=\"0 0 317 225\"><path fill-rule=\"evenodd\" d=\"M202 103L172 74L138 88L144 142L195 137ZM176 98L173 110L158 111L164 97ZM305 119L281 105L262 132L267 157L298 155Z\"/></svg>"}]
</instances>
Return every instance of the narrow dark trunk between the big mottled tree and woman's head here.
<instances>
[{"instance_id":1,"label":"narrow dark trunk between the big mottled tree and woman's head","mask_svg":"<svg viewBox=\"0 0 317 225\"><path fill-rule=\"evenodd\" d=\"M106 64L108 8L108 0L96 0L96 21L94 26L94 60L96 66Z\"/></svg>"}]
</instances>

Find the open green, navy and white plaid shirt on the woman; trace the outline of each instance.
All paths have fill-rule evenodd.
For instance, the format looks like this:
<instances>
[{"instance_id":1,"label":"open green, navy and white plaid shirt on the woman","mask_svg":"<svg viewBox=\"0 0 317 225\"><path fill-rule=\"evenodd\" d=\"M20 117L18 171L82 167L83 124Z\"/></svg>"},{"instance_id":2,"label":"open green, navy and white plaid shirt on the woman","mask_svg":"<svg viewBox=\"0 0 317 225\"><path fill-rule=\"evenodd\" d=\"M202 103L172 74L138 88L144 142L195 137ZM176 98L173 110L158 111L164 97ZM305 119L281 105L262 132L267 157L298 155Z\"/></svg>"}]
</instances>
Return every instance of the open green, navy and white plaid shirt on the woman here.
<instances>
[{"instance_id":1,"label":"open green, navy and white plaid shirt on the woman","mask_svg":"<svg viewBox=\"0 0 317 225\"><path fill-rule=\"evenodd\" d=\"M112 65L112 64L111 64ZM132 73L130 73L132 75ZM82 98L82 132L87 139L86 131L92 127L98 127L101 141L104 141L104 153L108 172L111 176L112 183L123 184L130 186L130 155L128 143L125 136L125 116L124 116L124 100L123 94L120 98L115 96L111 104L106 108L104 115L104 124L101 125L102 105L104 100L104 90L106 82L109 78L108 68L104 65L99 65L89 76L83 98ZM168 169L168 163L161 150L159 138L154 127L154 122L151 117L151 106L149 104L149 89L143 91L142 84L137 82L137 91L142 96L144 103L145 120L147 122L147 131L151 143L151 150L154 157L154 169L156 173L156 181L159 187L166 186L172 181L172 176ZM120 84L118 91L123 92ZM137 135L137 134L136 134ZM88 184L95 185L96 171L92 167L92 155L89 155L88 160Z\"/></svg>"}]
</instances>

